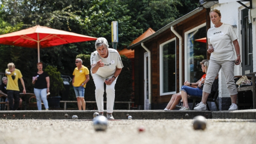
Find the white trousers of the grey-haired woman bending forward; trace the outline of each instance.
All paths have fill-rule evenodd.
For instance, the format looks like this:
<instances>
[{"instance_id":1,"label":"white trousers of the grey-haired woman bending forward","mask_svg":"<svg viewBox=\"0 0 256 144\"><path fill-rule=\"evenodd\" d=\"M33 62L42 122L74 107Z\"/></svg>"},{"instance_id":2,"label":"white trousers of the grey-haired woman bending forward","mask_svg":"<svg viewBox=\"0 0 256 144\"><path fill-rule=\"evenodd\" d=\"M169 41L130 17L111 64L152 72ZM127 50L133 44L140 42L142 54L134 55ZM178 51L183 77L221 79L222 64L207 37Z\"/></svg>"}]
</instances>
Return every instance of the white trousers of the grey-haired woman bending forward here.
<instances>
[{"instance_id":1,"label":"white trousers of the grey-haired woman bending forward","mask_svg":"<svg viewBox=\"0 0 256 144\"><path fill-rule=\"evenodd\" d=\"M111 78L111 77L110 77ZM107 113L113 113L113 107L114 107L114 101L115 101L115 85L116 85L116 80L114 80L111 85L106 85L106 93L107 93ZM103 94L104 94L104 81L105 79L98 76L95 74L93 76L93 81L95 84L95 98L96 98L96 103L99 112L104 111L104 101L103 101Z\"/></svg>"}]
</instances>

